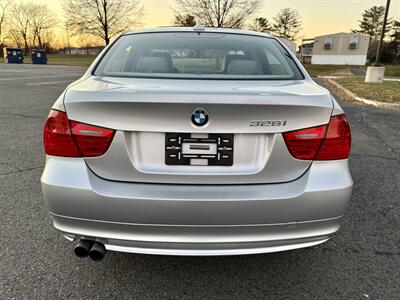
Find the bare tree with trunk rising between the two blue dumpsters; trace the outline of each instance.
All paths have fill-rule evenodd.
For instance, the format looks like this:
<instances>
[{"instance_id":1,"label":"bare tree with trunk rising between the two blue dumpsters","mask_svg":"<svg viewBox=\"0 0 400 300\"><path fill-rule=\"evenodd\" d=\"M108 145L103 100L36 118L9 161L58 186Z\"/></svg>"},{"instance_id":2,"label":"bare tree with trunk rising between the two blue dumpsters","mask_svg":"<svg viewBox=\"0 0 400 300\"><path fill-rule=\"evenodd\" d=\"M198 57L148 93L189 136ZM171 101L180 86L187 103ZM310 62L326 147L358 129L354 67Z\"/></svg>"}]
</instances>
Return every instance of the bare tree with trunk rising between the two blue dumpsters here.
<instances>
[{"instance_id":1,"label":"bare tree with trunk rising between the two blue dumpsters","mask_svg":"<svg viewBox=\"0 0 400 300\"><path fill-rule=\"evenodd\" d=\"M23 44L25 52L29 50L29 30L34 11L32 3L17 2L10 7L8 32L19 47Z\"/></svg>"}]
</instances>

